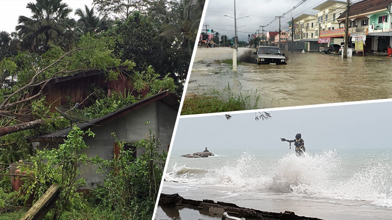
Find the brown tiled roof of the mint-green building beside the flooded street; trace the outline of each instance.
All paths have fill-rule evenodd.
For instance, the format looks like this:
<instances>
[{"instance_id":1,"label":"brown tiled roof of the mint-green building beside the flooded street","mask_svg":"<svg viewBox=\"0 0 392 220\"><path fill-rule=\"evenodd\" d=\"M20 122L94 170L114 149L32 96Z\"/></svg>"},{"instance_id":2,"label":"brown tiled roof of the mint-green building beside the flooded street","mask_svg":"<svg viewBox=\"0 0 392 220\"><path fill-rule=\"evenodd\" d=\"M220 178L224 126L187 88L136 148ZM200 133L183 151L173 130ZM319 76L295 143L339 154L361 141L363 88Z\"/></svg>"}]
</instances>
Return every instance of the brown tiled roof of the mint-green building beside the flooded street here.
<instances>
[{"instance_id":1,"label":"brown tiled roof of the mint-green building beside the flooded street","mask_svg":"<svg viewBox=\"0 0 392 220\"><path fill-rule=\"evenodd\" d=\"M392 0L363 0L362 2L358 2L350 5L350 9L348 11L348 17L369 13L372 11L378 11L381 9L387 10L387 6L391 4ZM346 11L344 11L337 19L342 19L346 17Z\"/></svg>"}]
</instances>

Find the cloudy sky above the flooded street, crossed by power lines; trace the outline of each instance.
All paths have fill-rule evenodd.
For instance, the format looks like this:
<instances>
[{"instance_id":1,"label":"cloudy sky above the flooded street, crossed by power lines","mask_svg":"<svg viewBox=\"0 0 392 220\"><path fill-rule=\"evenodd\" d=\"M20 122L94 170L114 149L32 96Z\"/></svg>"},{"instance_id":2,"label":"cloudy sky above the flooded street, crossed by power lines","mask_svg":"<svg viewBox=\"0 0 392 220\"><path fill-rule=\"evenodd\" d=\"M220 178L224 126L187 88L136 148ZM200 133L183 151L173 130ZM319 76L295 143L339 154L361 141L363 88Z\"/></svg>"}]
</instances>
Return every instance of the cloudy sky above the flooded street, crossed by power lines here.
<instances>
[{"instance_id":1,"label":"cloudy sky above the flooded street, crossed by power lines","mask_svg":"<svg viewBox=\"0 0 392 220\"><path fill-rule=\"evenodd\" d=\"M236 1L236 18L238 19L238 36L240 40L247 41L248 34L254 34L260 28L260 25L267 25L275 16L281 16L283 13L292 9L301 0L237 0ZM292 12L286 14L281 18L281 29L287 29L289 25L288 20L292 17L296 18L301 14L315 14L318 11L312 8L325 2L325 0L307 0L299 5ZM218 31L220 34L227 35L229 38L234 32L234 19L225 17L223 14L234 17L234 0L210 0L207 13L205 14L205 21L203 24L208 24L209 29ZM247 16L247 18L241 18ZM240 27L246 25L245 27ZM205 26L203 27L205 29ZM261 28L260 28L261 30ZM264 28L265 31L278 31L279 20L273 22ZM229 31L229 33L227 32ZM261 33L261 31L260 31Z\"/></svg>"}]
</instances>

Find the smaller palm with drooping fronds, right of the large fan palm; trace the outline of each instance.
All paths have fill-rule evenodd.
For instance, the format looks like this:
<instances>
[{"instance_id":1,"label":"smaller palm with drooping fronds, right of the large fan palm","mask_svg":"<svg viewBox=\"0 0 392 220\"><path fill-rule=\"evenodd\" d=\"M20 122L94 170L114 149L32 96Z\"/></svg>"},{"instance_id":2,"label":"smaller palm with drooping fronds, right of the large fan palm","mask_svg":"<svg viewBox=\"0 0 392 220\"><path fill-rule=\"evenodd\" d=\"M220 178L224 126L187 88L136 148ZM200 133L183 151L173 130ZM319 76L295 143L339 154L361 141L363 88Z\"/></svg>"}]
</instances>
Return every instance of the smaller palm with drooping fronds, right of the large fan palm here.
<instances>
[{"instance_id":1,"label":"smaller palm with drooping fronds, right of the large fan palm","mask_svg":"<svg viewBox=\"0 0 392 220\"><path fill-rule=\"evenodd\" d=\"M79 34L85 34L87 32L99 34L100 32L109 29L106 15L100 18L100 15L96 16L94 14L94 7L91 9L89 9L87 5L84 5L84 7L85 11L82 11L80 8L75 11L75 15L80 17L76 22L78 25L76 31L78 31Z\"/></svg>"}]
</instances>

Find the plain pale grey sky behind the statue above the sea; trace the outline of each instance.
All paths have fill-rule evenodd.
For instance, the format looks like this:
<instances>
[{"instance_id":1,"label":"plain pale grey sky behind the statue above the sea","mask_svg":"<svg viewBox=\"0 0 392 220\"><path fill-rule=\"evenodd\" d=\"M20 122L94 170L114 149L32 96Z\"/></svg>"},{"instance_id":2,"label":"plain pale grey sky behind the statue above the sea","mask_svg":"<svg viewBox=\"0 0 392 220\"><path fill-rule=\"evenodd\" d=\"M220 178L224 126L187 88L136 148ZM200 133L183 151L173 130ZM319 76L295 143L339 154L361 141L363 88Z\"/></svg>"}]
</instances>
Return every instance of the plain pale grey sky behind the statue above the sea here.
<instances>
[{"instance_id":1,"label":"plain pale grey sky behind the statue above the sea","mask_svg":"<svg viewBox=\"0 0 392 220\"><path fill-rule=\"evenodd\" d=\"M271 111L267 121L254 119L254 113L224 117L181 118L172 156L194 153L208 147L212 153L225 151L280 149L289 152L289 143L301 133L309 152L321 149L392 150L392 101L357 105ZM294 145L292 145L294 146ZM292 148L293 150L293 148Z\"/></svg>"}]
</instances>

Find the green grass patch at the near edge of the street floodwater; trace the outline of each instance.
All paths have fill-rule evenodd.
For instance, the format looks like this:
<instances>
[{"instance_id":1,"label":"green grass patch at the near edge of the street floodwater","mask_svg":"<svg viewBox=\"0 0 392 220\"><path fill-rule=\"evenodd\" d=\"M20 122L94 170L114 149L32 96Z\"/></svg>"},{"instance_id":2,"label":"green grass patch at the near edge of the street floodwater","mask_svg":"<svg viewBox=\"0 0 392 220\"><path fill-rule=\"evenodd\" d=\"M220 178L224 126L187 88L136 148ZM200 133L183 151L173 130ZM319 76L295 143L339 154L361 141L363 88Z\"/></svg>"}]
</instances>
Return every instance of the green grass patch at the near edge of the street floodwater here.
<instances>
[{"instance_id":1,"label":"green grass patch at the near edge of the street floodwater","mask_svg":"<svg viewBox=\"0 0 392 220\"><path fill-rule=\"evenodd\" d=\"M254 103L251 103L255 100ZM257 107L260 95L256 92L236 94L229 86L222 91L214 88L204 94L189 94L185 96L181 115L206 114L216 112L231 112Z\"/></svg>"}]
</instances>

